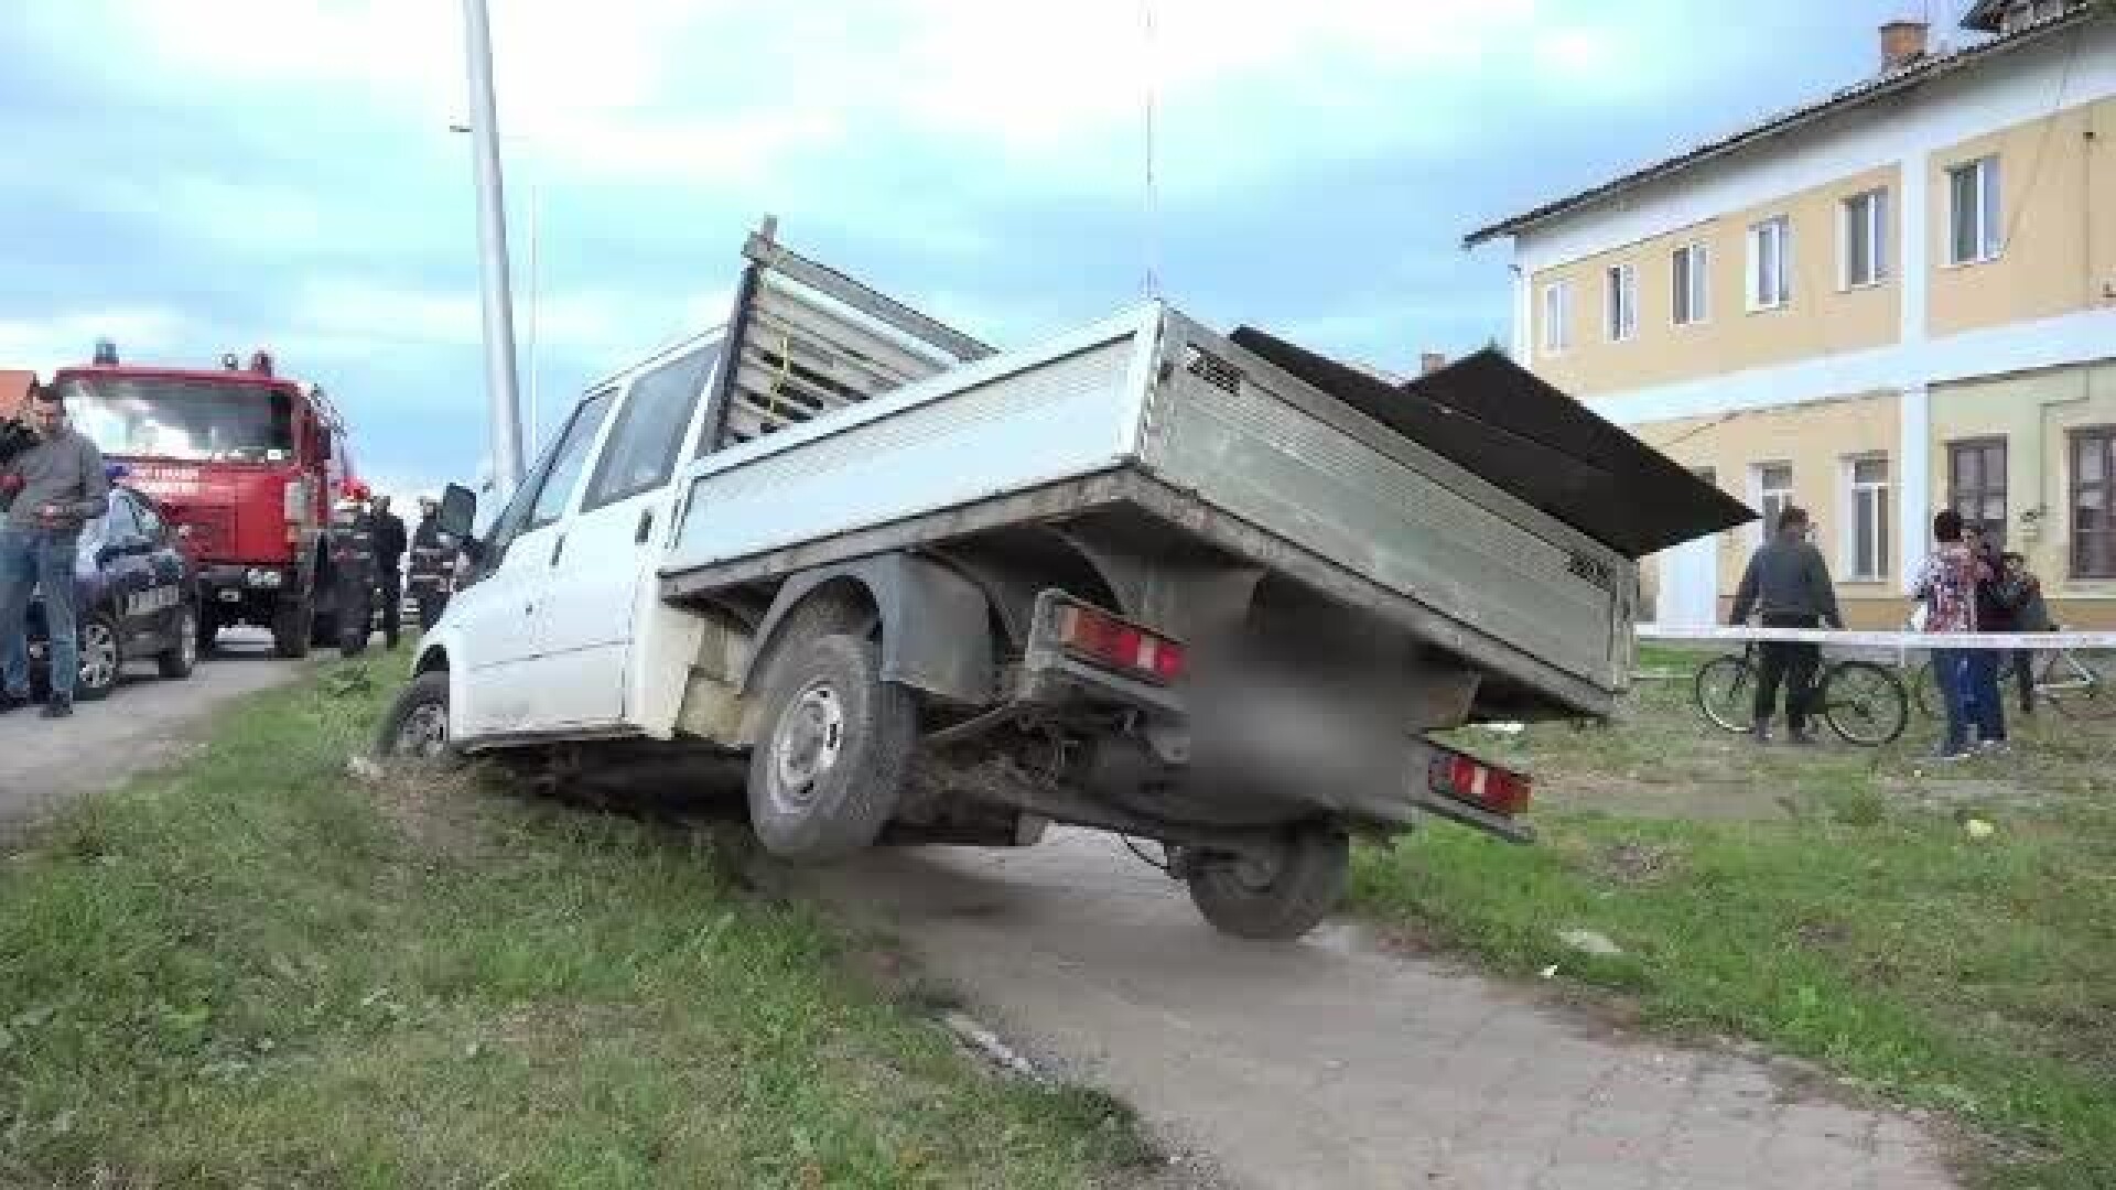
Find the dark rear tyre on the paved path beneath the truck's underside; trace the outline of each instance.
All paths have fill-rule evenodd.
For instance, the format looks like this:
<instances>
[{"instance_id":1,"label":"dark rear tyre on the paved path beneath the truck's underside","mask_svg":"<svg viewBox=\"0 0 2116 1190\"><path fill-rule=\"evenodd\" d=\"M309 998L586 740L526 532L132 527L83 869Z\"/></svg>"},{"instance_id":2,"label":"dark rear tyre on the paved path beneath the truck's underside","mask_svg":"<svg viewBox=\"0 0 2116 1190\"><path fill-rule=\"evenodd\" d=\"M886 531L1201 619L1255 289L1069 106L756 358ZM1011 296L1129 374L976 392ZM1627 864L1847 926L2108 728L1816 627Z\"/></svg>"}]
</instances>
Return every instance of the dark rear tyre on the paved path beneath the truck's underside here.
<instances>
[{"instance_id":1,"label":"dark rear tyre on the paved path beneath the truck's underside","mask_svg":"<svg viewBox=\"0 0 2116 1190\"><path fill-rule=\"evenodd\" d=\"M1185 877L1191 904L1221 934L1299 938L1337 908L1352 875L1352 841L1342 830L1289 830L1270 860L1193 853Z\"/></svg>"}]
</instances>

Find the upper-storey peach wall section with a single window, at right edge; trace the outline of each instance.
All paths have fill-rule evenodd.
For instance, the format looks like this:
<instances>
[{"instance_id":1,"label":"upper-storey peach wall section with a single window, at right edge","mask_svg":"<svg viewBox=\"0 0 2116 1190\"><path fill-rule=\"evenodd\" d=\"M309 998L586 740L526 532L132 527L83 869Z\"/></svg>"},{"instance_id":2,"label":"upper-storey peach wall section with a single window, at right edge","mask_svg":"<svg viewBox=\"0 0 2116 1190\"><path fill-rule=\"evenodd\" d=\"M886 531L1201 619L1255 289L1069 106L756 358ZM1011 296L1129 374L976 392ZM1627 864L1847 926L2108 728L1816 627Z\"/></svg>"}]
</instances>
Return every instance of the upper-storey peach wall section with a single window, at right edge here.
<instances>
[{"instance_id":1,"label":"upper-storey peach wall section with a single window, at right edge","mask_svg":"<svg viewBox=\"0 0 2116 1190\"><path fill-rule=\"evenodd\" d=\"M2116 301L2116 100L1964 140L1930 157L1930 335L1955 335ZM1947 172L2000 159L1998 258L1949 263Z\"/></svg>"}]
</instances>

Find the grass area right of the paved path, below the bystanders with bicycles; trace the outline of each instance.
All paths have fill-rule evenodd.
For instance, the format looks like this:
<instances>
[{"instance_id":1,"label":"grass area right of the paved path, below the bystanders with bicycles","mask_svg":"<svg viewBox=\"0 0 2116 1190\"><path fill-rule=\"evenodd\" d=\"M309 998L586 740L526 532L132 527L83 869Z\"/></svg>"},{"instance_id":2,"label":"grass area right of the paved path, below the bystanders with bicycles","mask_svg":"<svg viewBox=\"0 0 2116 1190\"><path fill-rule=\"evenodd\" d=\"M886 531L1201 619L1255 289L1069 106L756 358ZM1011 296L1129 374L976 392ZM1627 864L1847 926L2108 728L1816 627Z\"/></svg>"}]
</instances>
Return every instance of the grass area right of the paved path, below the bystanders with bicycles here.
<instances>
[{"instance_id":1,"label":"grass area right of the paved path, below the bystanders with bicycles","mask_svg":"<svg viewBox=\"0 0 2116 1190\"><path fill-rule=\"evenodd\" d=\"M2014 724L2010 758L1945 771L1930 724L1756 752L1701 722L1695 661L1648 654L1667 675L1610 728L1466 733L1538 775L1543 841L1367 849L1356 906L1940 1110L1998 1141L1981 1186L2116 1186L2116 724ZM1623 953L1574 953L1570 927Z\"/></svg>"}]
</instances>

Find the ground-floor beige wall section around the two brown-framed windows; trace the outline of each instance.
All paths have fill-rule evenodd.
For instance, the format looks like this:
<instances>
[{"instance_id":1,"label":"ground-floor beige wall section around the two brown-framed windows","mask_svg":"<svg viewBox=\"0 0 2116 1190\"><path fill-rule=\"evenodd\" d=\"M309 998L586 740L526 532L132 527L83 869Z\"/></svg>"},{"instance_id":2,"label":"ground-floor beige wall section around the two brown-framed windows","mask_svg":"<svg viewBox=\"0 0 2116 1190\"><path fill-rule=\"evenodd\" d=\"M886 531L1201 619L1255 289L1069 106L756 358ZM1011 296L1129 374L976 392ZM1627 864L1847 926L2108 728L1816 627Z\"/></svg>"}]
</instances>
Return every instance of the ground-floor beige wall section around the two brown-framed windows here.
<instances>
[{"instance_id":1,"label":"ground-floor beige wall section around the two brown-framed windows","mask_svg":"<svg viewBox=\"0 0 2116 1190\"><path fill-rule=\"evenodd\" d=\"M1932 392L1932 498L1947 504L1947 443L2006 440L2006 546L2080 627L2116 629L2116 580L2072 576L2072 430L2116 426L2116 364L2053 368Z\"/></svg>"}]
</instances>

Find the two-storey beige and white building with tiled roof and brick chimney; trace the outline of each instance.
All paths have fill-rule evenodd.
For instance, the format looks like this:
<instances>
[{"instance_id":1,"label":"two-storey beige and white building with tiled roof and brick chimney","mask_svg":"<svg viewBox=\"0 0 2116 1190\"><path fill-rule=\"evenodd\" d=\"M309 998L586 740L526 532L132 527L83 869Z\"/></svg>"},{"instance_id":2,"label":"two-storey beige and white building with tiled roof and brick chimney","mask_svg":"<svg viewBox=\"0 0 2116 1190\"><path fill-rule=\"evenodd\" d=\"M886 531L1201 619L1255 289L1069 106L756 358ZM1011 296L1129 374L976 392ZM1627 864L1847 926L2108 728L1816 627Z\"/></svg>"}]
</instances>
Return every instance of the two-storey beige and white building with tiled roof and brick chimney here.
<instances>
[{"instance_id":1,"label":"two-storey beige and white building with tiled roof and brick chimney","mask_svg":"<svg viewBox=\"0 0 2116 1190\"><path fill-rule=\"evenodd\" d=\"M1856 627L1896 627L1932 512L2116 627L2116 6L1981 0L1881 30L1835 95L1492 224L1517 360L1765 517L1813 512ZM1761 525L1648 561L1722 618Z\"/></svg>"}]
</instances>

